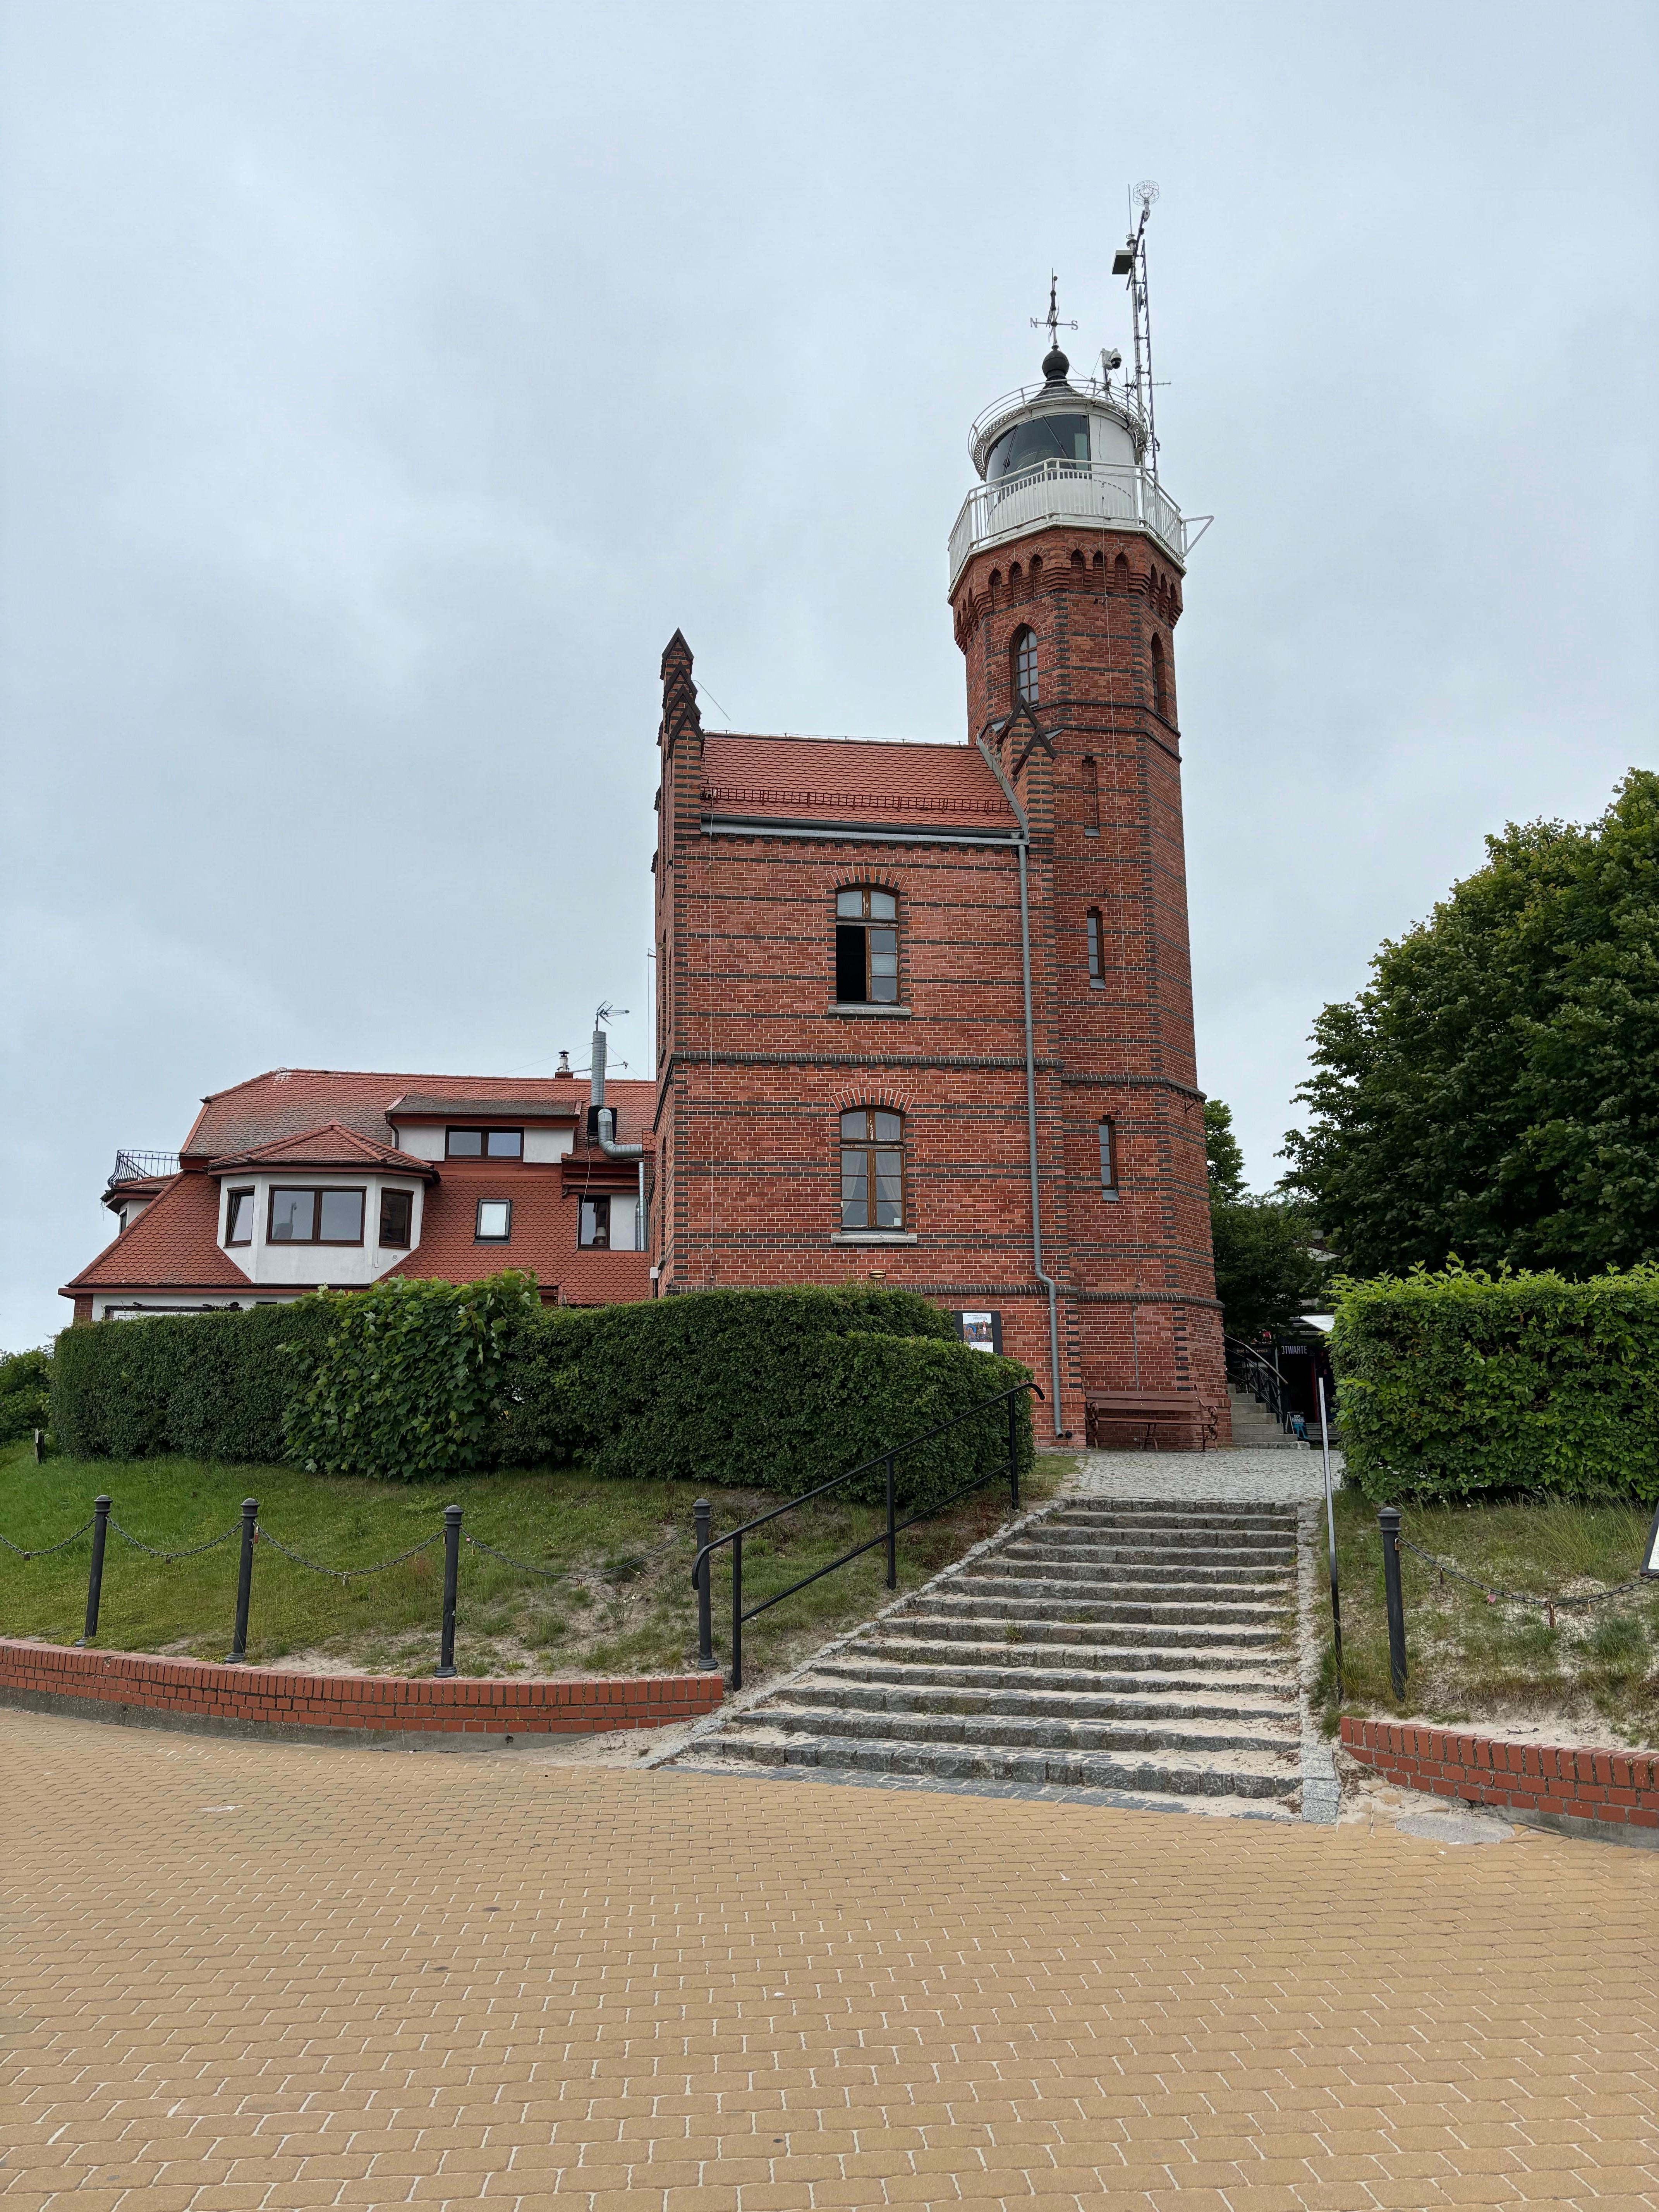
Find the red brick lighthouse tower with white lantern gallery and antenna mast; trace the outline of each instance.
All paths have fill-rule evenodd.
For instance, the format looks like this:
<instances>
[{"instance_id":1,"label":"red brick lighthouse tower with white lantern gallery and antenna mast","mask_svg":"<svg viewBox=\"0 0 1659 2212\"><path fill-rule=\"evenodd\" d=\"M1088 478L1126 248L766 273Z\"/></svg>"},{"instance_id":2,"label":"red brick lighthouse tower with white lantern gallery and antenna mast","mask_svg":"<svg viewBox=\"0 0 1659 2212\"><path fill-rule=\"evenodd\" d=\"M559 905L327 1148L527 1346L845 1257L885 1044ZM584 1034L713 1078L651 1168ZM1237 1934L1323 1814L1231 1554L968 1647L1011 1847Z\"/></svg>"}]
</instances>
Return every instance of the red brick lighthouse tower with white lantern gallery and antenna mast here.
<instances>
[{"instance_id":1,"label":"red brick lighthouse tower with white lantern gallery and antenna mast","mask_svg":"<svg viewBox=\"0 0 1659 2212\"><path fill-rule=\"evenodd\" d=\"M1042 385L973 425L980 484L951 531L951 611L969 741L1015 796L1031 785L1053 949L1037 1057L1093 1427L1130 1442L1177 1394L1225 1442L1175 686L1188 531L1157 480L1144 217L1117 274L1130 276L1137 374L1113 385L1108 354L1102 376L1073 380L1051 296Z\"/></svg>"}]
</instances>

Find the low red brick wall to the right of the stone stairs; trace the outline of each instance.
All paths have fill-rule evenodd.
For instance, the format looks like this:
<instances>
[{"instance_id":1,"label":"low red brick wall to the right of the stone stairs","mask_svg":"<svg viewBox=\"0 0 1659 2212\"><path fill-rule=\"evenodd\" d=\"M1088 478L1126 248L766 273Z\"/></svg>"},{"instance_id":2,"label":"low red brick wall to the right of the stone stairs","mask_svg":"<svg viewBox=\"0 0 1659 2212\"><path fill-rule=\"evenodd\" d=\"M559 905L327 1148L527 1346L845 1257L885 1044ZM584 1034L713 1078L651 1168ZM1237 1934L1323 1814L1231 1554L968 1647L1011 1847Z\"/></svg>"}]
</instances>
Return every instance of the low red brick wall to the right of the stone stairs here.
<instances>
[{"instance_id":1,"label":"low red brick wall to the right of the stone stairs","mask_svg":"<svg viewBox=\"0 0 1659 2212\"><path fill-rule=\"evenodd\" d=\"M1659 1756L1571 1752L1546 1743L1502 1743L1449 1728L1343 1721L1343 1750L1402 1790L1495 1805L1517 1820L1659 1843Z\"/></svg>"}]
</instances>

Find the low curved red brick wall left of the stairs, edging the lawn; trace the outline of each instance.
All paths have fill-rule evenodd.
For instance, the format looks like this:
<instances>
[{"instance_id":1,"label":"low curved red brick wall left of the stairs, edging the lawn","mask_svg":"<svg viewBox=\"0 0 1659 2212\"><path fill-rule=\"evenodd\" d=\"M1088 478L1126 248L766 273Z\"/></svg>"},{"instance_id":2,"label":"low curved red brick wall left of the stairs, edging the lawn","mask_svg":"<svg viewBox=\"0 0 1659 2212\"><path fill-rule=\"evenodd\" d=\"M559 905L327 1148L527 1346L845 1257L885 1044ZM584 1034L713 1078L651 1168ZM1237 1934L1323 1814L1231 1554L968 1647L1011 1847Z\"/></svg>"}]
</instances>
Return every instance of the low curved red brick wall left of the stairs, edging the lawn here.
<instances>
[{"instance_id":1,"label":"low curved red brick wall left of the stairs, edging the lawn","mask_svg":"<svg viewBox=\"0 0 1659 2212\"><path fill-rule=\"evenodd\" d=\"M712 1712L719 1674L613 1681L409 1681L400 1674L290 1674L146 1652L0 1639L0 1703L243 1736L374 1739L595 1736Z\"/></svg>"}]
</instances>

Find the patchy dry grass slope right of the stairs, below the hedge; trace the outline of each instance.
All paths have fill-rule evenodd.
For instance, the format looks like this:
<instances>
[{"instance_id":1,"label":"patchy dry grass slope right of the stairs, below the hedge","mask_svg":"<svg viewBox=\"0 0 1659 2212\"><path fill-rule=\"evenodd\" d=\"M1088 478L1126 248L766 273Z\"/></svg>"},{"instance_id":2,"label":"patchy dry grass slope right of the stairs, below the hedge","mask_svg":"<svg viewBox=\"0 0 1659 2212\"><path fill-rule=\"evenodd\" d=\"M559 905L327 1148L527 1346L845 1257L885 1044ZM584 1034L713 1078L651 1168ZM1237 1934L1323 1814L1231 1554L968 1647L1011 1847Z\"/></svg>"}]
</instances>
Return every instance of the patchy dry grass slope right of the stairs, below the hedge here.
<instances>
[{"instance_id":1,"label":"patchy dry grass slope right of the stairs, below the hedge","mask_svg":"<svg viewBox=\"0 0 1659 2212\"><path fill-rule=\"evenodd\" d=\"M1402 1533L1486 1588L1577 1597L1628 1582L1641 1564L1652 1506L1473 1504L1402 1506ZM1321 1513L1321 1601L1329 1630ZM1343 1595L1343 1712L1413 1714L1440 1725L1502 1721L1564 1723L1579 1734L1659 1743L1659 1584L1604 1606L1557 1608L1555 1626L1535 1606L1486 1604L1400 1553L1407 1694L1394 1703L1389 1628L1383 1604L1383 1535L1376 1506L1336 1498L1336 1571ZM1316 1699L1336 1728L1336 1661L1325 1652Z\"/></svg>"}]
</instances>

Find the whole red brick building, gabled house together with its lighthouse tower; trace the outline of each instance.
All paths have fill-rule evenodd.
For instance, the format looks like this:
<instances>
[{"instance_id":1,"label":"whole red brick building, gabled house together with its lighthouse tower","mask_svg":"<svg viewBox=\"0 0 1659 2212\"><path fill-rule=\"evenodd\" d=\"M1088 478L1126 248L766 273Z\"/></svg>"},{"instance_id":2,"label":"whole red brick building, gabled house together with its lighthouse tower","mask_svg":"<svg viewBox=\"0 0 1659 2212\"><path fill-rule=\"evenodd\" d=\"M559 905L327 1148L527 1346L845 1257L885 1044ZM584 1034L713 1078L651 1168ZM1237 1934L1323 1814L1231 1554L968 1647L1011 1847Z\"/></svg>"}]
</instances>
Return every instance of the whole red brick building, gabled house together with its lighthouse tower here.
<instances>
[{"instance_id":1,"label":"whole red brick building, gabled house together with its lighthouse tower","mask_svg":"<svg viewBox=\"0 0 1659 2212\"><path fill-rule=\"evenodd\" d=\"M1228 1442L1181 845L1186 526L1133 394L973 429L960 745L706 732L664 661L661 1294L876 1279L995 1334L1055 1433Z\"/></svg>"}]
</instances>

